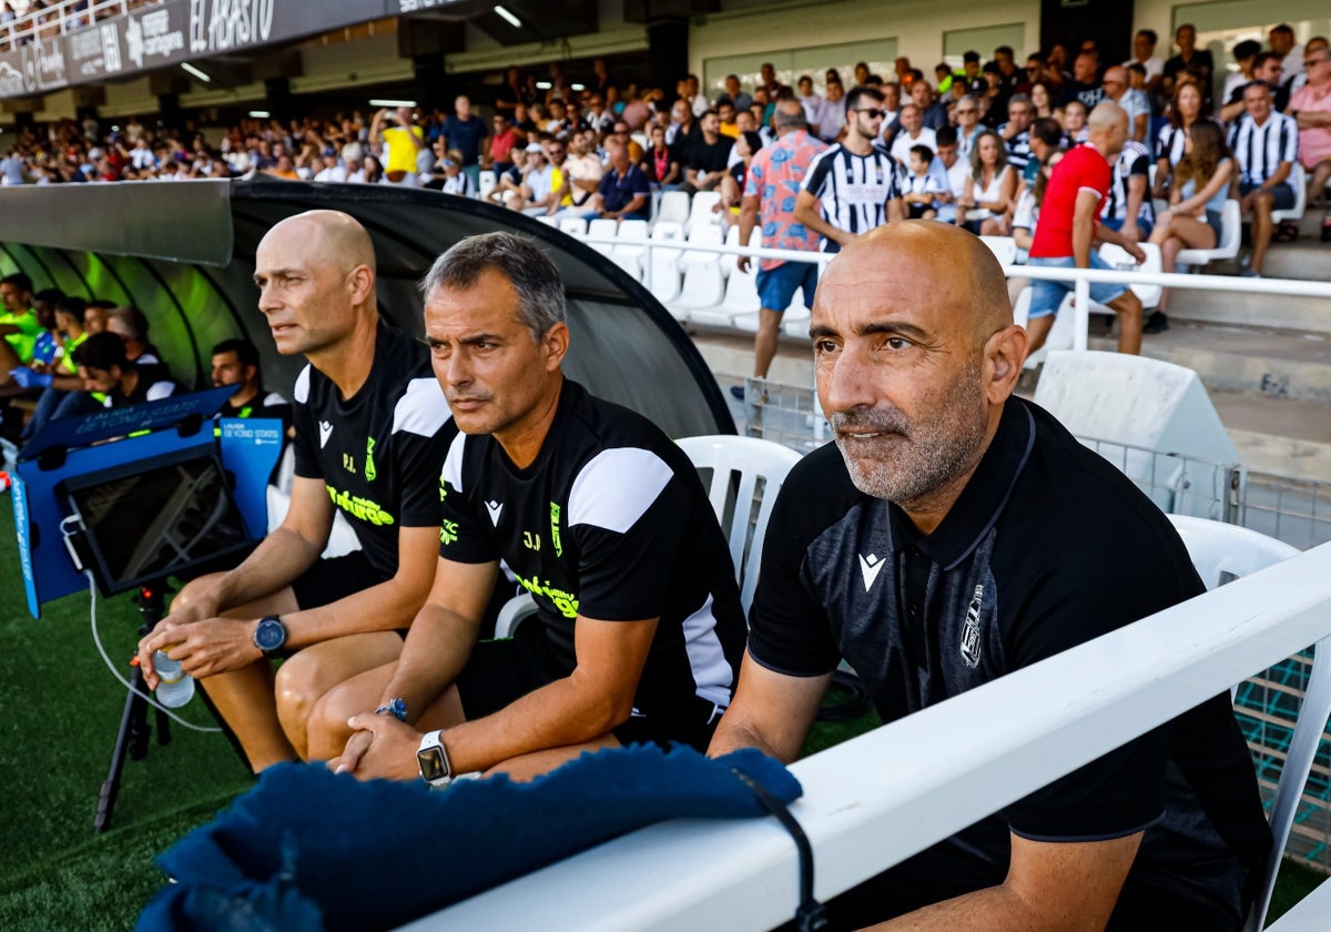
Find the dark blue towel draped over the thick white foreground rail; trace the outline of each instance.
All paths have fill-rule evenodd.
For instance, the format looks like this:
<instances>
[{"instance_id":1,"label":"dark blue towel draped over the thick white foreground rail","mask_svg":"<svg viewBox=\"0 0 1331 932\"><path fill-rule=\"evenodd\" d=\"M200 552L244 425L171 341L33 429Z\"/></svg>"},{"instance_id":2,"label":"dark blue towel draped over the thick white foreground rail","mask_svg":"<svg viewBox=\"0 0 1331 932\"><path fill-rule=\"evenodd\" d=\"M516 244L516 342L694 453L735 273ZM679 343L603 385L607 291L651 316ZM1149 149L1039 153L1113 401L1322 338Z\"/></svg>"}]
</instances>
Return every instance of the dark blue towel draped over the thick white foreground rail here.
<instances>
[{"instance_id":1,"label":"dark blue towel draped over the thick white foreground rail","mask_svg":"<svg viewBox=\"0 0 1331 932\"><path fill-rule=\"evenodd\" d=\"M390 928L666 819L767 808L736 768L789 804L803 792L757 751L711 760L675 746L584 754L531 783L422 783L281 764L158 857L177 883L138 929Z\"/></svg>"}]
</instances>

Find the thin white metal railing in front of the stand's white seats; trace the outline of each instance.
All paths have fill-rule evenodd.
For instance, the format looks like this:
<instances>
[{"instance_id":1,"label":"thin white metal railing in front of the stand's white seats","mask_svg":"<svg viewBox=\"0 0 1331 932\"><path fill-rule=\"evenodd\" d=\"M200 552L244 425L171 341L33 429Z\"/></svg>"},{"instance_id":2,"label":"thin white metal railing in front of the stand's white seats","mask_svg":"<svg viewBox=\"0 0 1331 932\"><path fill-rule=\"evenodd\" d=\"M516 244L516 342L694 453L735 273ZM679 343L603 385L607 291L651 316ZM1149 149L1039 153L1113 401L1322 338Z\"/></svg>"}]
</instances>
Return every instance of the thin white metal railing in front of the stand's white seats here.
<instances>
[{"instance_id":1,"label":"thin white metal railing in front of the stand's white seats","mask_svg":"<svg viewBox=\"0 0 1331 932\"><path fill-rule=\"evenodd\" d=\"M618 237L574 237L590 246L630 246L646 249L644 284L652 289L652 250L671 249L683 252L716 253L717 256L749 256L753 258L779 258L785 262L817 262L825 266L836 254L801 252L795 249L759 249L751 246L731 246L716 244L692 244L688 240L622 240ZM1004 265L1009 278L1041 278L1050 281L1070 281L1073 294L1073 349L1087 349L1090 328L1090 286L1093 282L1113 282L1121 285L1159 285L1163 288L1191 289L1198 292L1244 292L1250 294L1275 294L1290 297L1331 298L1331 282L1304 281L1299 278L1243 278L1240 276L1181 274L1178 272L1141 272L1134 269L1050 269L1032 265Z\"/></svg>"}]
</instances>

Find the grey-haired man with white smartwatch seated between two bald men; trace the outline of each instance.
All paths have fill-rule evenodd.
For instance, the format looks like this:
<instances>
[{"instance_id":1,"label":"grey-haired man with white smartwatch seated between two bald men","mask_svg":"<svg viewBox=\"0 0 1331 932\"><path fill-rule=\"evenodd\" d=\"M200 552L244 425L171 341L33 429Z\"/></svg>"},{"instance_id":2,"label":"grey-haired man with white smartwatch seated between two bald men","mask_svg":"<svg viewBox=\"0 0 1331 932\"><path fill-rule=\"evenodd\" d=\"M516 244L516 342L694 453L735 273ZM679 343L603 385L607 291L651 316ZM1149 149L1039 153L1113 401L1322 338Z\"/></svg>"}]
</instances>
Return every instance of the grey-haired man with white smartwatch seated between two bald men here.
<instances>
[{"instance_id":1,"label":"grey-haired man with white smartwatch seated between two bald men","mask_svg":"<svg viewBox=\"0 0 1331 932\"><path fill-rule=\"evenodd\" d=\"M434 588L398 662L321 700L310 756L438 787L476 771L530 779L635 742L705 748L745 627L695 467L650 421L564 377L563 284L530 240L463 240L422 290L462 431L439 483ZM536 615L476 643L500 561Z\"/></svg>"}]
</instances>

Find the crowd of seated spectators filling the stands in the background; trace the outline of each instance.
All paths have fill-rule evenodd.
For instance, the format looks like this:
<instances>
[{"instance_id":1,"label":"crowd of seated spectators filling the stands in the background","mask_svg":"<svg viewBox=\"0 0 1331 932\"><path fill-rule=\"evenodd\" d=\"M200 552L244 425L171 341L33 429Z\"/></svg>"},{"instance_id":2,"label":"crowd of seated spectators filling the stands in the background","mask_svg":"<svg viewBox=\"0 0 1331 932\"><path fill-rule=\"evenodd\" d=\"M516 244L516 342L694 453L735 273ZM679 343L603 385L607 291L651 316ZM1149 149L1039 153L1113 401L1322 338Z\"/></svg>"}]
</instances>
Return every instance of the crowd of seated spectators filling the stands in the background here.
<instances>
[{"instance_id":1,"label":"crowd of seated spectators filling the stands in the background","mask_svg":"<svg viewBox=\"0 0 1331 932\"><path fill-rule=\"evenodd\" d=\"M958 71L940 64L929 76L905 57L886 77L861 63L844 76L825 71L824 93L812 75L783 84L771 64L751 85L729 75L709 97L693 75L671 89L639 87L616 81L599 60L594 77L575 88L555 63L539 83L510 68L483 107L461 95L447 112L249 118L221 138L149 129L137 118L102 134L95 118L65 120L20 128L0 157L0 184L262 174L423 186L530 214L610 218L650 218L656 192L680 189L717 192L717 212L737 222L749 165L777 138L781 101L799 104L812 138L836 144L852 134L851 111L868 95L881 116L870 141L890 153L902 216L1025 245L1040 217L1042 169L1086 141L1098 104L1114 103L1129 137L1102 225L1129 244L1155 242L1173 270L1182 249L1217 245L1233 196L1252 222L1242 274L1260 276L1270 242L1298 236L1296 224L1272 222L1298 200L1295 165L1310 204L1322 202L1331 178L1327 40L1299 45L1290 27L1278 25L1264 48L1239 43L1238 71L1213 100L1213 55L1197 48L1191 25L1174 39L1177 53L1163 59L1157 35L1142 29L1122 64L1102 61L1094 39L1055 44L1024 64L1008 47L988 61L966 52ZM1323 238L1331 240L1331 224ZM1146 332L1165 326L1161 310Z\"/></svg>"}]
</instances>

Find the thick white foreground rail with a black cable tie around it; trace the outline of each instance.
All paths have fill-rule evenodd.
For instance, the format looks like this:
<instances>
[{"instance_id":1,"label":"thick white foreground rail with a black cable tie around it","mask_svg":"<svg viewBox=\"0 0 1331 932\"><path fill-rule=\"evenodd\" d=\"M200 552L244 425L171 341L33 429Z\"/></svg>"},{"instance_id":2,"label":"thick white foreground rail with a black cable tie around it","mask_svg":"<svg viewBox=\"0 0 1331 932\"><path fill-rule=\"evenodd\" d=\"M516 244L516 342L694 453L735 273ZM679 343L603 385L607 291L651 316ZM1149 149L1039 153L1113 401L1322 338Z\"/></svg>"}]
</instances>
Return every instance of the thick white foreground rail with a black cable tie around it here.
<instances>
[{"instance_id":1,"label":"thick white foreground rail with a black cable tie around it","mask_svg":"<svg viewBox=\"0 0 1331 932\"><path fill-rule=\"evenodd\" d=\"M1331 545L792 764L816 895L849 889L1327 635ZM406 928L769 929L795 912L796 868L772 819L679 820Z\"/></svg>"}]
</instances>

